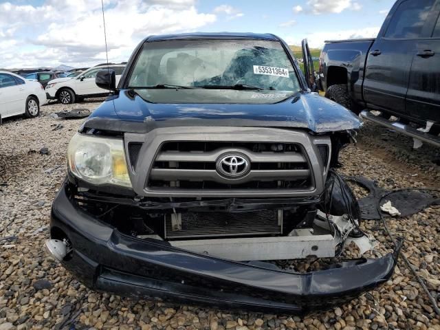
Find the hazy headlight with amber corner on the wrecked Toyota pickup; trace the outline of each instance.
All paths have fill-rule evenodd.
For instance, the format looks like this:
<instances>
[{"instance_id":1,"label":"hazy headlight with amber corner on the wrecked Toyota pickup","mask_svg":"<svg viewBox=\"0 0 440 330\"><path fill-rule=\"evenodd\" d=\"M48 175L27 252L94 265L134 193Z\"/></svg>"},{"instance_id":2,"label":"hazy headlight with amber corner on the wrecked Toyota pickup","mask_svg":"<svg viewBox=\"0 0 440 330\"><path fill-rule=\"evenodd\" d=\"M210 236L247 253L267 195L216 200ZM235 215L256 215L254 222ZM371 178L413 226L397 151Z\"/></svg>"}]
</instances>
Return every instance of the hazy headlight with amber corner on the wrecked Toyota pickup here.
<instances>
[{"instance_id":1,"label":"hazy headlight with amber corner on the wrecked Toyota pickup","mask_svg":"<svg viewBox=\"0 0 440 330\"><path fill-rule=\"evenodd\" d=\"M72 173L90 184L131 188L121 139L77 133L70 140L67 159Z\"/></svg>"}]
</instances>

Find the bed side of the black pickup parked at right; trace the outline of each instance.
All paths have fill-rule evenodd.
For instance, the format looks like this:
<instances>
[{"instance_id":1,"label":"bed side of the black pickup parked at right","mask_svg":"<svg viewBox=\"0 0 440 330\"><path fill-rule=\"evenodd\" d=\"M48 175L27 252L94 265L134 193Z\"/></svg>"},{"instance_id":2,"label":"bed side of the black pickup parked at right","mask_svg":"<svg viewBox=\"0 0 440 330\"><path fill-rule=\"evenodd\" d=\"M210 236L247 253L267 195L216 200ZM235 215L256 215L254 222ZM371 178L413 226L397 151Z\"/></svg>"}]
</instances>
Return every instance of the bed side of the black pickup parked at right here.
<instances>
[{"instance_id":1,"label":"bed side of the black pickup parked at right","mask_svg":"<svg viewBox=\"0 0 440 330\"><path fill-rule=\"evenodd\" d=\"M352 100L363 102L362 83L367 54L375 39L326 41L321 53L322 88L347 85Z\"/></svg>"}]
</instances>

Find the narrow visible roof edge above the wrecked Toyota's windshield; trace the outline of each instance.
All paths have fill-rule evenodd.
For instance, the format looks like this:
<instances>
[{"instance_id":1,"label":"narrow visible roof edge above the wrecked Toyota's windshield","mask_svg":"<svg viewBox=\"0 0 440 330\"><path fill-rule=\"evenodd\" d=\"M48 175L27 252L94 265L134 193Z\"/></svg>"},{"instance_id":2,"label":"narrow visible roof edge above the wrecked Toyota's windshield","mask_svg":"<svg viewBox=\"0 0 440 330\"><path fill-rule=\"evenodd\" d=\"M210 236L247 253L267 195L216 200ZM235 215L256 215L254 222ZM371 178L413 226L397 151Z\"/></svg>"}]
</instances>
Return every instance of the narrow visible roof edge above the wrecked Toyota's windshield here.
<instances>
[{"instance_id":1,"label":"narrow visible roof edge above the wrecked Toyota's windshield","mask_svg":"<svg viewBox=\"0 0 440 330\"><path fill-rule=\"evenodd\" d=\"M257 39L267 41L279 41L278 36L266 33L251 32L194 32L183 34L162 34L158 36L148 36L144 41L166 41L166 40L183 40L183 39Z\"/></svg>"}]
</instances>

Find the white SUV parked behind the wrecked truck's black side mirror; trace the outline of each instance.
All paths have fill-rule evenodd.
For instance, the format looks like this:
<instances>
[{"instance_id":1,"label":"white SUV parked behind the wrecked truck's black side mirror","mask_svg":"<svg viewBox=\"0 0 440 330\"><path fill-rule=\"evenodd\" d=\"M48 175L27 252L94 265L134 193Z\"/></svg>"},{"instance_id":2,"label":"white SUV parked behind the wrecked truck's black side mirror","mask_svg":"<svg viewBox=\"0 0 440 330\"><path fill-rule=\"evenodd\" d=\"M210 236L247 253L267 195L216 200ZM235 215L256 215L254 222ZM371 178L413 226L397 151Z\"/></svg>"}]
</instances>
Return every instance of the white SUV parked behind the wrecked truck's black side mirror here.
<instances>
[{"instance_id":1,"label":"white SUV parked behind the wrecked truck's black side mirror","mask_svg":"<svg viewBox=\"0 0 440 330\"><path fill-rule=\"evenodd\" d=\"M125 65L109 65L108 68L115 71L116 85L118 85ZM74 103L84 98L96 98L107 96L109 91L95 84L98 71L107 69L107 65L91 67L77 77L57 78L50 80L46 86L46 96L50 100L58 100L63 104Z\"/></svg>"}]
</instances>

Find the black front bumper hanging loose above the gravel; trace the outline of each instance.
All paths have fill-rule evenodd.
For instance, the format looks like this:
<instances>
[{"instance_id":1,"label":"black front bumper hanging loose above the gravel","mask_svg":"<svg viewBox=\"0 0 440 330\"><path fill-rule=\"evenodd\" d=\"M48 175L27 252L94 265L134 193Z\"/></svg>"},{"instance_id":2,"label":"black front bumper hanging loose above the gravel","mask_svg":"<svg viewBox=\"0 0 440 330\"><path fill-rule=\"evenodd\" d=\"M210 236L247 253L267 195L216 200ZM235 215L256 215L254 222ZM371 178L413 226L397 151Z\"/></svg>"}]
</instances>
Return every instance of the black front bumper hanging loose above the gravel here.
<instances>
[{"instance_id":1,"label":"black front bumper hanging loose above the gravel","mask_svg":"<svg viewBox=\"0 0 440 330\"><path fill-rule=\"evenodd\" d=\"M241 263L136 239L78 208L61 188L51 234L66 234L73 254L63 265L88 287L121 296L222 309L303 314L345 303L393 274L400 246L380 259L346 261L307 274L269 263Z\"/></svg>"}]
</instances>

